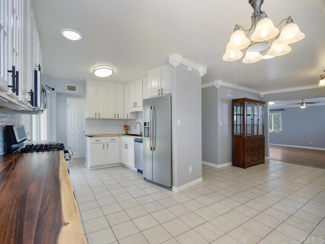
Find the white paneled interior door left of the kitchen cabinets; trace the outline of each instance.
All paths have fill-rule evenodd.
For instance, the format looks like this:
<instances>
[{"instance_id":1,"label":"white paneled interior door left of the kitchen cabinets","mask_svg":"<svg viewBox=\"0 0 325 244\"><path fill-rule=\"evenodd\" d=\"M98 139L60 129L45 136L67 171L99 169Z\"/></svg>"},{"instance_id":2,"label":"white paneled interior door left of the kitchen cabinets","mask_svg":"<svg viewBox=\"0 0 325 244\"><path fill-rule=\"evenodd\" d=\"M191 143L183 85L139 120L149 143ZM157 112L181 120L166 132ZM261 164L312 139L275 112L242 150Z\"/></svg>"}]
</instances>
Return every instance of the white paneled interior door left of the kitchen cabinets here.
<instances>
[{"instance_id":1,"label":"white paneled interior door left of the kitchen cabinets","mask_svg":"<svg viewBox=\"0 0 325 244\"><path fill-rule=\"evenodd\" d=\"M85 157L85 100L67 98L68 145L73 158Z\"/></svg>"}]
</instances>

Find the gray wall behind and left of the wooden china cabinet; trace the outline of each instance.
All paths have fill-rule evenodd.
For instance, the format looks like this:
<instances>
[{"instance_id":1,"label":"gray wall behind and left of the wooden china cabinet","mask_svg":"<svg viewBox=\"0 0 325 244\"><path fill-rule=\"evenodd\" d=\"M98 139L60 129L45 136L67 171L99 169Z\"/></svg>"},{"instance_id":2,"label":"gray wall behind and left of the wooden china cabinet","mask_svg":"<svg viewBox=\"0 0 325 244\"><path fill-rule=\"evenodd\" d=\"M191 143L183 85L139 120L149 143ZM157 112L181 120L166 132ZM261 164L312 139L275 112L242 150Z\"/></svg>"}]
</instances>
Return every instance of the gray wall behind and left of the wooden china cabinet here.
<instances>
[{"instance_id":1,"label":"gray wall behind and left of the wooden china cabinet","mask_svg":"<svg viewBox=\"0 0 325 244\"><path fill-rule=\"evenodd\" d=\"M233 91L233 97L227 95L227 90ZM261 96L258 94L236 88L225 86L216 88L210 86L202 89L203 161L212 164L232 162L232 99L237 98L262 100ZM206 109L207 107L208 110ZM267 114L267 110L265 111ZM213 114L211 115L209 113ZM267 115L265 115L265 117L267 117ZM222 123L221 126L220 121ZM211 130L213 126L216 127L217 130Z\"/></svg>"}]
</instances>

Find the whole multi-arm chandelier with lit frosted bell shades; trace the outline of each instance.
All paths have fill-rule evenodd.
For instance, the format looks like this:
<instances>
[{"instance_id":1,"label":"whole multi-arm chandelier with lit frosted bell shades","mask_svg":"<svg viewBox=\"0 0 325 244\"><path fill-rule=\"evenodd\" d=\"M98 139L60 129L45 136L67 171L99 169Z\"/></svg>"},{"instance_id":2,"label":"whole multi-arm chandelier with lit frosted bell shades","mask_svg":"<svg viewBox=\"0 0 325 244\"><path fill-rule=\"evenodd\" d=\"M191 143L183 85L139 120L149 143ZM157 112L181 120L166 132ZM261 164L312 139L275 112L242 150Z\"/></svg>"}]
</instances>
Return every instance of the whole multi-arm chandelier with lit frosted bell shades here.
<instances>
[{"instance_id":1,"label":"whole multi-arm chandelier with lit frosted bell shades","mask_svg":"<svg viewBox=\"0 0 325 244\"><path fill-rule=\"evenodd\" d=\"M225 54L222 56L223 60L235 61L241 58L243 53L240 50L244 48L247 49L243 58L243 63L245 64L255 63L262 58L269 59L284 55L291 51L288 44L298 42L305 37L305 34L300 31L298 25L294 23L290 16L281 20L277 26L274 26L265 11L261 11L263 2L264 0L248 0L248 3L254 10L251 16L251 26L249 29L244 29L241 25L236 24L230 41L226 46ZM279 32L277 27L285 20L286 24ZM247 35L253 28L254 32L249 40ZM271 48L266 51L270 46L271 39L274 39L274 41Z\"/></svg>"}]
</instances>

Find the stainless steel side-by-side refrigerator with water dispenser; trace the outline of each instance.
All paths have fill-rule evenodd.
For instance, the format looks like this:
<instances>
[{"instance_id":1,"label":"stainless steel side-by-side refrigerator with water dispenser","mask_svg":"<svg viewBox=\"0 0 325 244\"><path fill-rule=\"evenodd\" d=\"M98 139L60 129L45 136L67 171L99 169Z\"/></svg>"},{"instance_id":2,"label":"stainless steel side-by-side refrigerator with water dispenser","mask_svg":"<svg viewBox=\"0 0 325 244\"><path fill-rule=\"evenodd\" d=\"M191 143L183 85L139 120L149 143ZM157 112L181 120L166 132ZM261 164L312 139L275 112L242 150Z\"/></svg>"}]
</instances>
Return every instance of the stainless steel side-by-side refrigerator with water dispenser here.
<instances>
[{"instance_id":1,"label":"stainless steel side-by-side refrigerator with water dispenser","mask_svg":"<svg viewBox=\"0 0 325 244\"><path fill-rule=\"evenodd\" d=\"M172 97L143 100L143 177L172 188Z\"/></svg>"}]
</instances>

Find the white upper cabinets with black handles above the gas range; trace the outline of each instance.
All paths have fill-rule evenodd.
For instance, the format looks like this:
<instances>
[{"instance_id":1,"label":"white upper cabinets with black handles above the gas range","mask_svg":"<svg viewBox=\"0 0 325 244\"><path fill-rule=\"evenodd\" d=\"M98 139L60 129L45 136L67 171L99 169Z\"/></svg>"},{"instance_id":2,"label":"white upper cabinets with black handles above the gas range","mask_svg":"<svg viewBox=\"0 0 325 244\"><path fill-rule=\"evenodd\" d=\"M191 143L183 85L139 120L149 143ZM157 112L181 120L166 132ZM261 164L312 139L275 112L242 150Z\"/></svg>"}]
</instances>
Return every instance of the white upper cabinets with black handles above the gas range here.
<instances>
[{"instance_id":1,"label":"white upper cabinets with black handles above the gas range","mask_svg":"<svg viewBox=\"0 0 325 244\"><path fill-rule=\"evenodd\" d=\"M42 49L30 0L0 1L0 96L2 106L32 110L34 70L42 68Z\"/></svg>"}]
</instances>

